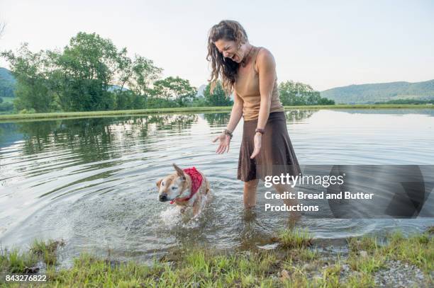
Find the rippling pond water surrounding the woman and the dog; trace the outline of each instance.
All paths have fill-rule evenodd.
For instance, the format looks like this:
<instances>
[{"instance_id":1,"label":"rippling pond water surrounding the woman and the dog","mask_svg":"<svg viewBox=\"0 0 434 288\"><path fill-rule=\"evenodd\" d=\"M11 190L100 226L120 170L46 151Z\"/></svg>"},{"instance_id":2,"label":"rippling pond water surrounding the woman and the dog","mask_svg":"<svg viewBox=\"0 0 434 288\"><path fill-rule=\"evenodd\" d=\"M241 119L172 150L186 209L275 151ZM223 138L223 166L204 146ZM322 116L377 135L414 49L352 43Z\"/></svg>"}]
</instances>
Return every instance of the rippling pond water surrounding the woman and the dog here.
<instances>
[{"instance_id":1,"label":"rippling pond water surrounding the woman and the dog","mask_svg":"<svg viewBox=\"0 0 434 288\"><path fill-rule=\"evenodd\" d=\"M301 165L433 165L433 116L430 109L286 112ZM64 238L64 260L84 250L149 260L180 246L269 247L287 214L264 211L264 188L257 209L243 209L236 180L242 122L228 154L216 154L211 142L228 119L209 113L0 123L1 246ZM196 166L210 180L213 198L199 219L157 201L155 183L172 173L172 163ZM433 224L302 217L296 225L335 239Z\"/></svg>"}]
</instances>

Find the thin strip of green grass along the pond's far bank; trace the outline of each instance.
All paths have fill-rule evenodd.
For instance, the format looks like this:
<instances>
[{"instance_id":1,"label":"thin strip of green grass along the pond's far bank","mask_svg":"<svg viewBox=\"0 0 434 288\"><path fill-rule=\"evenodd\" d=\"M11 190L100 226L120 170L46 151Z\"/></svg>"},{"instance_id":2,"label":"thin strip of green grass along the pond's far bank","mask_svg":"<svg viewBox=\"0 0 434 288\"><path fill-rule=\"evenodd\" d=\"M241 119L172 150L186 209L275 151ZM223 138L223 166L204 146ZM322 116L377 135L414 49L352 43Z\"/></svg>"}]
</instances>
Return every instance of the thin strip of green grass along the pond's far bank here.
<instances>
[{"instance_id":1,"label":"thin strip of green grass along the pond's far bank","mask_svg":"<svg viewBox=\"0 0 434 288\"><path fill-rule=\"evenodd\" d=\"M62 113L33 113L33 114L5 114L0 115L0 121L13 120L36 120L36 119L55 119L68 117L101 117L101 116L126 116L126 115L145 115L157 113L202 113L202 112L228 112L231 106L225 107L185 107L185 108L156 108L138 110L111 110L111 111L88 111L88 112L62 112ZM305 105L305 106L285 106L285 110L294 109L384 109L384 108L429 108L434 109L434 105L416 104L338 104L338 105Z\"/></svg>"}]
</instances>

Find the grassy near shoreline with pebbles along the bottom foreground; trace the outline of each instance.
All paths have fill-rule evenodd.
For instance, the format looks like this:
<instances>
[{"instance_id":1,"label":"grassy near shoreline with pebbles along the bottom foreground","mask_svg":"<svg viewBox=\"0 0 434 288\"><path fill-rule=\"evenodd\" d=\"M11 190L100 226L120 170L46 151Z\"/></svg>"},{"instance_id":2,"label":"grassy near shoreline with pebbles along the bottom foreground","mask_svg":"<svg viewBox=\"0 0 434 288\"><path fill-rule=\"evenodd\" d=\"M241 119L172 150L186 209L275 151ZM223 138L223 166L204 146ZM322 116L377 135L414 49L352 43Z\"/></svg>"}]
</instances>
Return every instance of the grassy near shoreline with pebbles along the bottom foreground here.
<instances>
[{"instance_id":1,"label":"grassy near shoreline with pebbles along the bottom foreground","mask_svg":"<svg viewBox=\"0 0 434 288\"><path fill-rule=\"evenodd\" d=\"M26 253L1 251L0 286L7 273L37 273L29 266L38 261L45 263L40 274L48 278L43 287L375 287L383 281L382 275L386 277L384 271L391 271L391 277L404 273L407 278L414 270L420 275L411 286L433 284L432 228L408 237L396 231L382 239L348 238L347 253L334 257L323 255L312 240L306 231L286 229L279 232L273 250L222 253L190 247L153 265L82 254L68 269L56 268L55 247L64 243L35 241Z\"/></svg>"}]
</instances>

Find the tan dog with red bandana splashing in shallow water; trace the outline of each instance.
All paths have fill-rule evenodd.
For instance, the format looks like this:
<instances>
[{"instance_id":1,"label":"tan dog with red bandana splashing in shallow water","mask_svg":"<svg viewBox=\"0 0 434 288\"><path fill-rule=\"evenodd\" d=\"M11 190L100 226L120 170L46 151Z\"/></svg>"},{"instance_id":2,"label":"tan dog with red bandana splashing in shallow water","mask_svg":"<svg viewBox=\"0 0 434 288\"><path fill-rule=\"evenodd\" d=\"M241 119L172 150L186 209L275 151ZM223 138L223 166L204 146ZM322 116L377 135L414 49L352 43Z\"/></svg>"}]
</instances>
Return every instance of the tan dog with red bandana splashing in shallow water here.
<instances>
[{"instance_id":1,"label":"tan dog with red bandana splashing in shallow water","mask_svg":"<svg viewBox=\"0 0 434 288\"><path fill-rule=\"evenodd\" d=\"M210 192L209 182L195 167L183 170L172 165L176 172L157 181L158 200L179 205L182 213L187 207L193 207L194 217L197 217L208 198L205 196Z\"/></svg>"}]
</instances>

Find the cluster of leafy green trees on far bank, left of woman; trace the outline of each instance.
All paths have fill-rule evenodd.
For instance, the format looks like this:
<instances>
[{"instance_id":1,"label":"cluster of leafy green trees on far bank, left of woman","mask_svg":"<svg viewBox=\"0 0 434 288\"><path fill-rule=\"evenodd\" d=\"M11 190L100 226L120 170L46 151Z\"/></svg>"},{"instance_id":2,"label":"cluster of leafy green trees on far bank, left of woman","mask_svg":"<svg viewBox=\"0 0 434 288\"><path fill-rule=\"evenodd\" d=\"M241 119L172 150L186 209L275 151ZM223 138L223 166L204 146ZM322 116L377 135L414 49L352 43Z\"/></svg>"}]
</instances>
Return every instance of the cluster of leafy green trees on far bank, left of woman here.
<instances>
[{"instance_id":1,"label":"cluster of leafy green trees on far bank, left of woman","mask_svg":"<svg viewBox=\"0 0 434 288\"><path fill-rule=\"evenodd\" d=\"M96 33L77 33L62 50L33 53L23 45L16 53L6 51L1 56L16 76L17 110L91 111L199 103L192 101L196 88L187 79L160 79L162 69L152 60L137 54L131 59L126 48L118 50ZM0 96L7 90L4 87Z\"/></svg>"}]
</instances>

